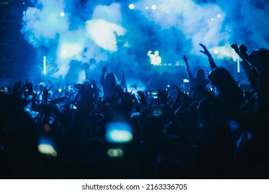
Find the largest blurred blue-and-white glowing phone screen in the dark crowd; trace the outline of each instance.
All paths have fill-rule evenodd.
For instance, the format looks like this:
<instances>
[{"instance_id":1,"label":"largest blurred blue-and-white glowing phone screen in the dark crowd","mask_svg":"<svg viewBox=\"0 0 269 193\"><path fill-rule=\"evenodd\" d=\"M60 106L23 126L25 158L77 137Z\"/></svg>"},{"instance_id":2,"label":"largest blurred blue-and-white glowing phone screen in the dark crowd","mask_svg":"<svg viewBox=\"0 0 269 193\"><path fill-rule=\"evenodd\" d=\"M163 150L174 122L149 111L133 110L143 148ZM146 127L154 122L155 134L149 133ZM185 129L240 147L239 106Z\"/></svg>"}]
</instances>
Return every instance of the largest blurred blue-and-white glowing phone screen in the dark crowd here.
<instances>
[{"instance_id":1,"label":"largest blurred blue-and-white glowing phone screen in the dark crowd","mask_svg":"<svg viewBox=\"0 0 269 193\"><path fill-rule=\"evenodd\" d=\"M131 125L126 122L108 123L105 137L110 143L128 143L133 140Z\"/></svg>"}]
</instances>

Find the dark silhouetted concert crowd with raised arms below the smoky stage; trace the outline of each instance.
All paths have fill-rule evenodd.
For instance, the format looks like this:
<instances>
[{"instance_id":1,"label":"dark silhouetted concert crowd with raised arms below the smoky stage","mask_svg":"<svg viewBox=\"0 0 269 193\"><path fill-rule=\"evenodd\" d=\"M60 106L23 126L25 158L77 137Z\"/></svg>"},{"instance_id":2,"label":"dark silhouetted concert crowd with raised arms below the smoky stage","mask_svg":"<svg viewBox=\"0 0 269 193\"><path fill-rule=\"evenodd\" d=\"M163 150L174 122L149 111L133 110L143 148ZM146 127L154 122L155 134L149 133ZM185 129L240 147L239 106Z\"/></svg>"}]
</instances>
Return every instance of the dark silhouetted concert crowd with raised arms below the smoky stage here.
<instances>
[{"instance_id":1,"label":"dark silhouetted concert crowd with raised arms below the smoky stage","mask_svg":"<svg viewBox=\"0 0 269 193\"><path fill-rule=\"evenodd\" d=\"M1 88L1 179L268 179L269 50L231 45L241 90L200 46L211 72L193 77L184 55L190 88L177 93L127 92L107 64L100 84Z\"/></svg>"}]
</instances>

